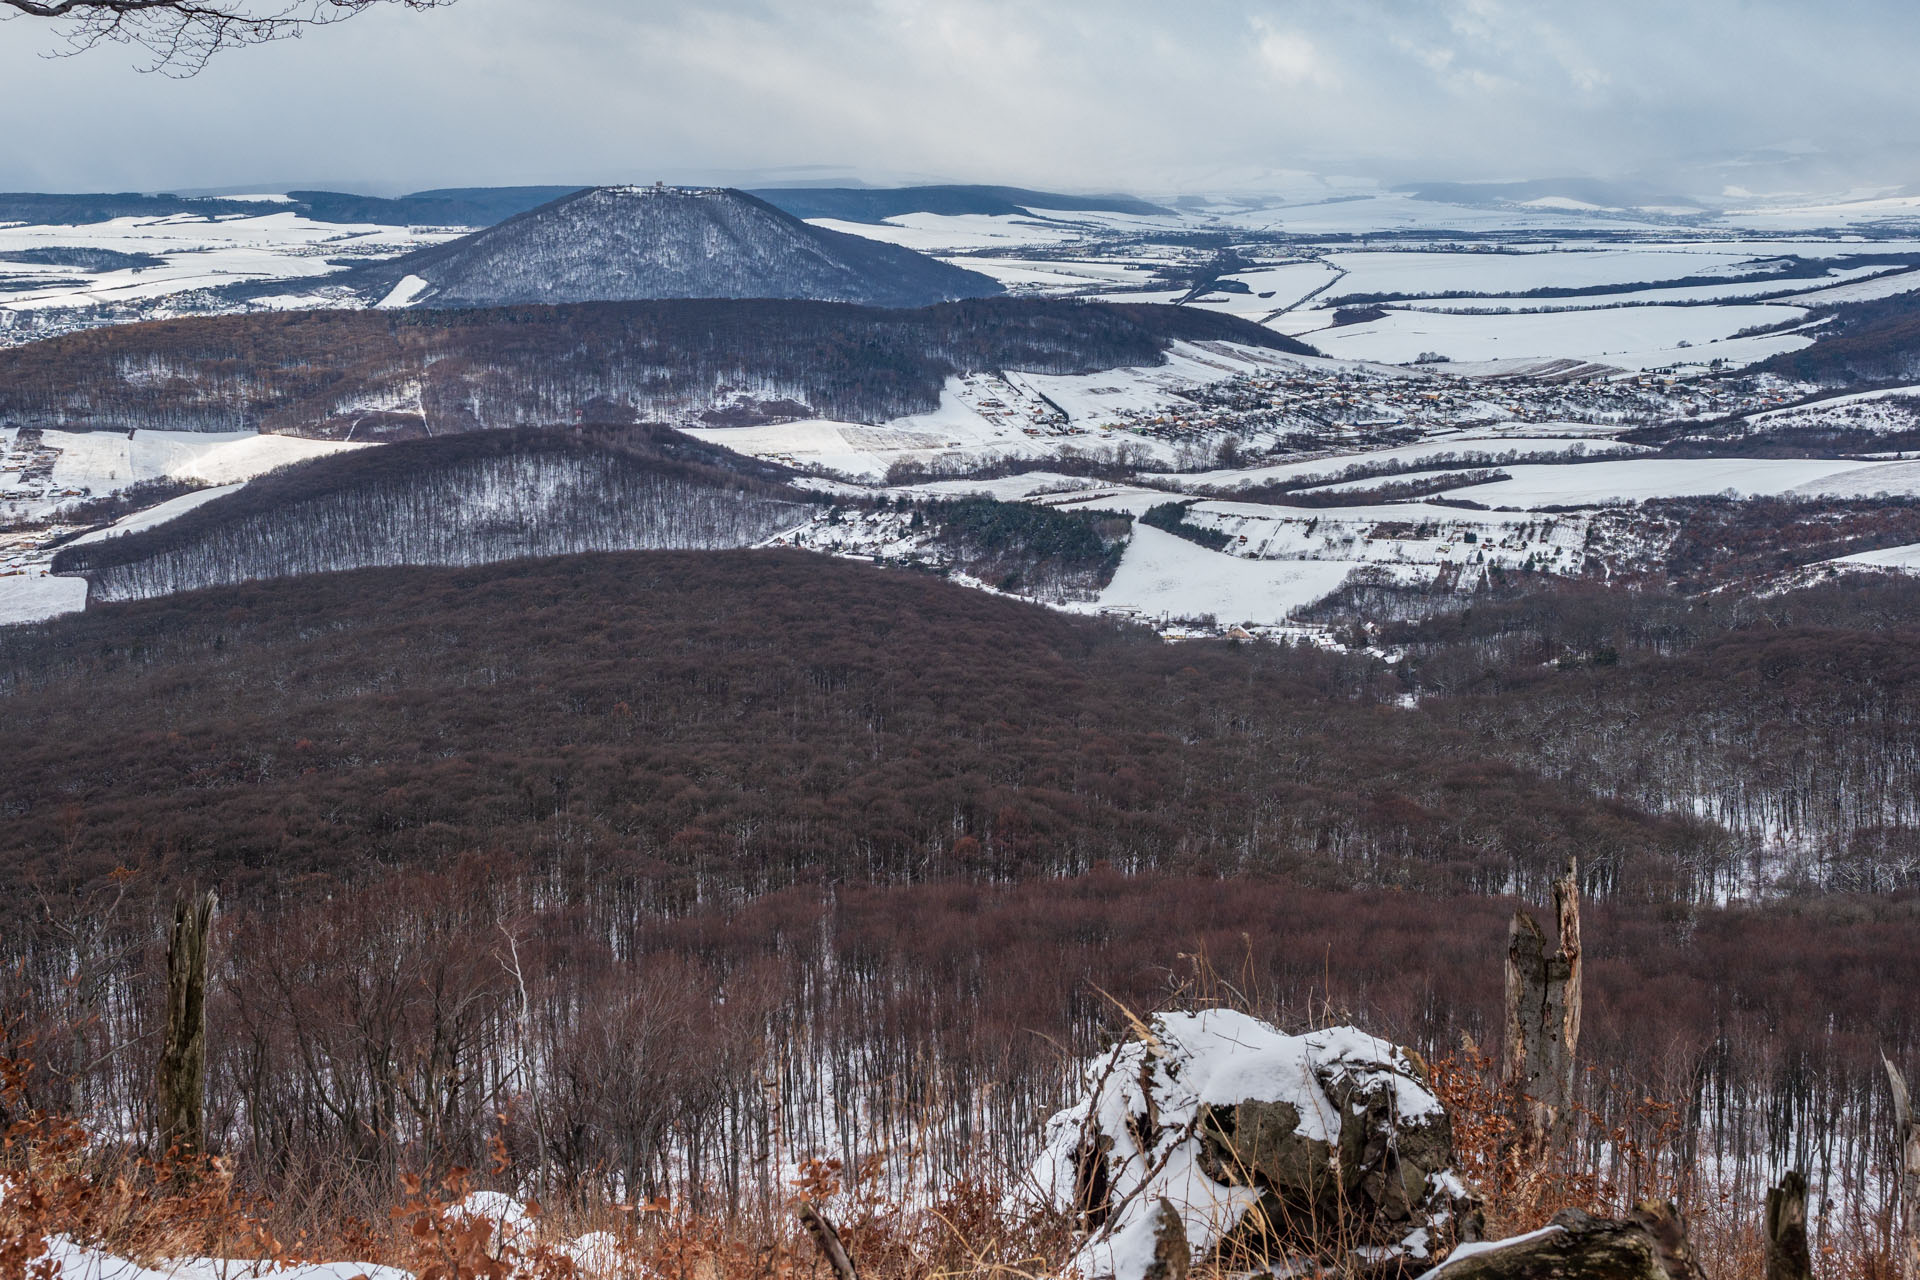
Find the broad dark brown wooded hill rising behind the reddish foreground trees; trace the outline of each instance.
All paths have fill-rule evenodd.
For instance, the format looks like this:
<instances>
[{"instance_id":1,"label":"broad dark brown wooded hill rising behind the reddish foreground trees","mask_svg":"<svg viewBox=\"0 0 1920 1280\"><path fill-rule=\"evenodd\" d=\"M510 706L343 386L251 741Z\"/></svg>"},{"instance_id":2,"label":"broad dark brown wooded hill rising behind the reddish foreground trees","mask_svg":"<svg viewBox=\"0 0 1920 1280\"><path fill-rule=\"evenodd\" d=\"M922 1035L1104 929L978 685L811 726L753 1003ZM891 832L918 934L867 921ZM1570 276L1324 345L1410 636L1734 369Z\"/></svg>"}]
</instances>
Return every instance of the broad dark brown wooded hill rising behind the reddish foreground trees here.
<instances>
[{"instance_id":1,"label":"broad dark brown wooded hill rising behind the reddish foreground trees","mask_svg":"<svg viewBox=\"0 0 1920 1280\"><path fill-rule=\"evenodd\" d=\"M0 631L0 871L240 892L511 850L657 892L1098 862L1500 890L1580 852L1667 894L1711 837L1398 689L785 551L219 587Z\"/></svg>"}]
</instances>

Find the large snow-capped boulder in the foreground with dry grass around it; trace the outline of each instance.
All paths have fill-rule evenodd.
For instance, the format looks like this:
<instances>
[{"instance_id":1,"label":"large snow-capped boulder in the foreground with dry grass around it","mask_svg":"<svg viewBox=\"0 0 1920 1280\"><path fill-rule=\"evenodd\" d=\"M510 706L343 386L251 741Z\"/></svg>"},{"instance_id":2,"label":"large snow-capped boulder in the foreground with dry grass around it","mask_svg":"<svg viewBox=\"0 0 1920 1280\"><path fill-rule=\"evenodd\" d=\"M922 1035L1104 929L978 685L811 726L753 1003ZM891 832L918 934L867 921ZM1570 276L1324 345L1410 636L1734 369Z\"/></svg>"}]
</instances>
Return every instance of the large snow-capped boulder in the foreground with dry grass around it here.
<instances>
[{"instance_id":1,"label":"large snow-capped boulder in the foreground with dry grass around it","mask_svg":"<svg viewBox=\"0 0 1920 1280\"><path fill-rule=\"evenodd\" d=\"M1077 1213L1073 1268L1156 1270L1167 1201L1194 1261L1235 1270L1363 1253L1425 1263L1471 1213L1421 1061L1352 1027L1288 1036L1229 1009L1164 1013L1087 1065L1023 1196Z\"/></svg>"}]
</instances>

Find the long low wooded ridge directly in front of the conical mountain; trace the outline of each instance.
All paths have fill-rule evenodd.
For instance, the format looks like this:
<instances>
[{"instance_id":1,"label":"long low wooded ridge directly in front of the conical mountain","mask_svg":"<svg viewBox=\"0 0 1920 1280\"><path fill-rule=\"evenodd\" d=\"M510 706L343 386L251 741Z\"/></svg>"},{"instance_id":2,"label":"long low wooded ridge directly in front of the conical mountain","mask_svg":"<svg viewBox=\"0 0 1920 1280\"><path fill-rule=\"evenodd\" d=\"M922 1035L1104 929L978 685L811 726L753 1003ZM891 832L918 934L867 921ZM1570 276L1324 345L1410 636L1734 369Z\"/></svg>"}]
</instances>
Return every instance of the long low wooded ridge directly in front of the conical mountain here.
<instances>
[{"instance_id":1,"label":"long low wooded ridge directly in front of the conical mountain","mask_svg":"<svg viewBox=\"0 0 1920 1280\"><path fill-rule=\"evenodd\" d=\"M1190 307L1012 297L259 313L0 349L0 422L353 439L582 416L885 422L939 407L956 372L1156 365L1173 340L1311 351Z\"/></svg>"}]
</instances>

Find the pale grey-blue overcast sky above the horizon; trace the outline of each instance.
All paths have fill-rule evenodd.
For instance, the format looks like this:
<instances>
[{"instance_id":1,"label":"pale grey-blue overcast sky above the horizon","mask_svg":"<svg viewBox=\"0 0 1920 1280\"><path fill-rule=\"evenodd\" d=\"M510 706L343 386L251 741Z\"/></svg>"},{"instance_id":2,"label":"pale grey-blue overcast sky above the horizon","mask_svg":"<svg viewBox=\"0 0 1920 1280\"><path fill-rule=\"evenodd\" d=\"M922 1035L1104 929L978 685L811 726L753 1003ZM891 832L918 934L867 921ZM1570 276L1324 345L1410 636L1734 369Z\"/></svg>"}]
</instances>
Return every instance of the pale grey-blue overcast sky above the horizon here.
<instances>
[{"instance_id":1,"label":"pale grey-blue overcast sky above the horizon","mask_svg":"<svg viewBox=\"0 0 1920 1280\"><path fill-rule=\"evenodd\" d=\"M186 81L56 48L0 23L0 188L1920 182L1910 0L459 0Z\"/></svg>"}]
</instances>

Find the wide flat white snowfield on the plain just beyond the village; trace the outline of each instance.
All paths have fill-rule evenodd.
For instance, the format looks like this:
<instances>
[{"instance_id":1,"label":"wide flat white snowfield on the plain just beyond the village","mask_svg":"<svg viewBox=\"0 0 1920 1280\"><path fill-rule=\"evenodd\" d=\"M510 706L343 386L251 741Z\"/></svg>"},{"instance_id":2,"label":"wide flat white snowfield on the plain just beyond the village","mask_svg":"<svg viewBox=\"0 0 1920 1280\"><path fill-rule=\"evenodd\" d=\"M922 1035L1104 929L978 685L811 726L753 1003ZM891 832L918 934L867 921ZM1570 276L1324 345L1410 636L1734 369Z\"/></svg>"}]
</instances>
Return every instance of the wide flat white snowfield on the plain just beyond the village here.
<instances>
[{"instance_id":1,"label":"wide flat white snowfield on the plain just beyond the village","mask_svg":"<svg viewBox=\"0 0 1920 1280\"><path fill-rule=\"evenodd\" d=\"M1659 368L1716 357L1747 365L1761 359L1755 351L1797 351L1812 338L1770 334L1730 342L1734 334L1805 317L1801 307L1780 305L1619 307L1544 315L1388 311L1379 320L1315 332L1313 345L1327 355L1390 365L1411 363L1427 351L1453 361L1567 357L1617 368Z\"/></svg>"}]
</instances>

